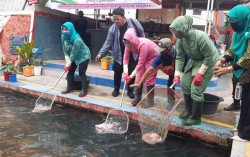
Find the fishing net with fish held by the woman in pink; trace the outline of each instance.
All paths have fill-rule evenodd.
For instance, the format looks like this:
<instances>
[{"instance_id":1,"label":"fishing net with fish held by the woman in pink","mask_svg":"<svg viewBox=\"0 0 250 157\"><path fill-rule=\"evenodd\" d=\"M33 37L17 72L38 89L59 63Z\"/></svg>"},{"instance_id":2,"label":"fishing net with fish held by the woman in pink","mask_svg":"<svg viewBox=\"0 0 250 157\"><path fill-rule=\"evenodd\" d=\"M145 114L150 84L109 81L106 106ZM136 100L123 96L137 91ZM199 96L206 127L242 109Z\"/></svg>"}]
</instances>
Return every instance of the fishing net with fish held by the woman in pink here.
<instances>
[{"instance_id":1,"label":"fishing net with fish held by the woman in pink","mask_svg":"<svg viewBox=\"0 0 250 157\"><path fill-rule=\"evenodd\" d=\"M119 108L110 110L106 117L106 121L102 124L95 125L98 133L123 134L128 131L129 117L122 108L125 86L126 83L124 83Z\"/></svg>"}]
</instances>

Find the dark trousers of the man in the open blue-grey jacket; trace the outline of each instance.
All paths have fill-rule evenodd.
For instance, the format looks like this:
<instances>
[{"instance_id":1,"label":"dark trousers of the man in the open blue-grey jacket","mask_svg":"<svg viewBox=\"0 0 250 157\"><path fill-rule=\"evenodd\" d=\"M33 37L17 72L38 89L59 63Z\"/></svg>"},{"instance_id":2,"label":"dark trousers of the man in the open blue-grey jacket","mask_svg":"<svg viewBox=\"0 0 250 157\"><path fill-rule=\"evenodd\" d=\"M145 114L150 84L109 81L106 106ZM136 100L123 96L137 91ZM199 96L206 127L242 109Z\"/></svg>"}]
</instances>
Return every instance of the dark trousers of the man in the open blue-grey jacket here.
<instances>
[{"instance_id":1,"label":"dark trousers of the man in the open blue-grey jacket","mask_svg":"<svg viewBox=\"0 0 250 157\"><path fill-rule=\"evenodd\" d=\"M134 71L136 65L137 65L137 61L135 61L134 59L131 59L131 57L130 57L129 64L128 64L128 74L129 75ZM114 88L120 89L122 73L123 73L123 64L120 65L119 63L114 61L113 70L114 70ZM135 82L135 78L133 78L129 82L128 88L129 88L129 85L133 84L134 82Z\"/></svg>"}]
</instances>

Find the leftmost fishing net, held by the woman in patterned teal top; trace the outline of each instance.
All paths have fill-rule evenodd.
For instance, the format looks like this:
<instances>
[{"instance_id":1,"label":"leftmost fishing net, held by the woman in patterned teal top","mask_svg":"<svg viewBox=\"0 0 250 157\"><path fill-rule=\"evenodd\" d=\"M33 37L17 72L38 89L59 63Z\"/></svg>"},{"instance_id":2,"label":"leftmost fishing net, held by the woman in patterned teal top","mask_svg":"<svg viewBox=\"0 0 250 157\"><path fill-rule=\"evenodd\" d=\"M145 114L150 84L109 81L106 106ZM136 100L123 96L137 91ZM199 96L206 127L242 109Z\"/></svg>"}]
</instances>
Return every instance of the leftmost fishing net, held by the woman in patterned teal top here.
<instances>
[{"instance_id":1,"label":"leftmost fishing net, held by the woman in patterned teal top","mask_svg":"<svg viewBox=\"0 0 250 157\"><path fill-rule=\"evenodd\" d=\"M63 77L65 71L61 74L59 79L56 81L53 88L43 92L39 98L36 100L35 108L32 110L34 113L42 113L48 110L51 110L52 104L56 99L56 93L54 91L54 88L57 86L61 78Z\"/></svg>"}]
</instances>

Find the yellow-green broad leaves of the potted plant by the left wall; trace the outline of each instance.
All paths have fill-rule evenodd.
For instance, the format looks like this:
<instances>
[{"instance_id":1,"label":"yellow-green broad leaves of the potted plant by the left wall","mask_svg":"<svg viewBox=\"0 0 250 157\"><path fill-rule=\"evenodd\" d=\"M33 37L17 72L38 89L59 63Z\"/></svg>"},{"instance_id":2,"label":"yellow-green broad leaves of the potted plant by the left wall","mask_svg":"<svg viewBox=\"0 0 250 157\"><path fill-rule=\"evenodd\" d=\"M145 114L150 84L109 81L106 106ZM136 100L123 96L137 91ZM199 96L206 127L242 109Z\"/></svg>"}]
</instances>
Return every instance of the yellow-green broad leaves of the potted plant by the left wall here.
<instances>
[{"instance_id":1,"label":"yellow-green broad leaves of the potted plant by the left wall","mask_svg":"<svg viewBox=\"0 0 250 157\"><path fill-rule=\"evenodd\" d=\"M13 44L13 49L18 53L18 55L21 57L22 63L29 63L29 58L32 53L32 49L34 48L34 42L31 41L30 43L27 43L26 41L23 42L23 47L20 48L17 45Z\"/></svg>"}]
</instances>

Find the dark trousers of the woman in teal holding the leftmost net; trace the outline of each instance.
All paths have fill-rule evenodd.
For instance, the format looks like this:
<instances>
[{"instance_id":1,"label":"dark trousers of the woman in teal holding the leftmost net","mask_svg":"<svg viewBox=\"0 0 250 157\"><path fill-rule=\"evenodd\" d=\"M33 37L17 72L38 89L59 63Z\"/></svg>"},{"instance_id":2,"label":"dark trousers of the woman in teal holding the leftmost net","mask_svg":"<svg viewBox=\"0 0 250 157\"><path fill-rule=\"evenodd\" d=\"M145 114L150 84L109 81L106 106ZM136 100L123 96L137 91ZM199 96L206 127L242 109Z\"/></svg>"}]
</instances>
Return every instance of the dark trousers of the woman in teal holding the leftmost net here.
<instances>
[{"instance_id":1,"label":"dark trousers of the woman in teal holding the leftmost net","mask_svg":"<svg viewBox=\"0 0 250 157\"><path fill-rule=\"evenodd\" d=\"M88 63L89 63L89 59L79 64L79 76L80 77L87 78L86 71L87 71L87 68L88 68ZM71 67L70 67L69 72L68 72L68 75L69 76L74 76L76 68L77 68L76 63L72 62Z\"/></svg>"}]
</instances>

